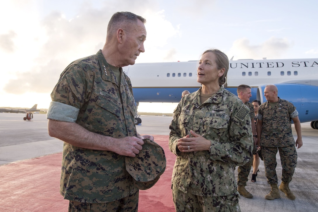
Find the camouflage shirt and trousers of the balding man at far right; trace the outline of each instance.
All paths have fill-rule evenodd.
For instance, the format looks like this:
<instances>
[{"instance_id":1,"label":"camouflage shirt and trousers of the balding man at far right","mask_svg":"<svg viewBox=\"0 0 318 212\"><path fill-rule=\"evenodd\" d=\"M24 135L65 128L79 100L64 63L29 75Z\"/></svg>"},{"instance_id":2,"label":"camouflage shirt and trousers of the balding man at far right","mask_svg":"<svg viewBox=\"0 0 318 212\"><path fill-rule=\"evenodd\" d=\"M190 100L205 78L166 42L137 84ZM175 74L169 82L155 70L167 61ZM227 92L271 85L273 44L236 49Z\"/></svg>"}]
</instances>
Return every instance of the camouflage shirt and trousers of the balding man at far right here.
<instances>
[{"instance_id":1,"label":"camouflage shirt and trousers of the balding man at far right","mask_svg":"<svg viewBox=\"0 0 318 212\"><path fill-rule=\"evenodd\" d=\"M279 98L279 97L278 97ZM281 180L292 180L297 164L297 152L292 133L291 119L298 116L295 106L280 99L272 108L267 102L259 106L257 119L262 120L260 145L265 166L265 175L269 184L278 184L276 174L276 154L280 152L282 165Z\"/></svg>"}]
</instances>

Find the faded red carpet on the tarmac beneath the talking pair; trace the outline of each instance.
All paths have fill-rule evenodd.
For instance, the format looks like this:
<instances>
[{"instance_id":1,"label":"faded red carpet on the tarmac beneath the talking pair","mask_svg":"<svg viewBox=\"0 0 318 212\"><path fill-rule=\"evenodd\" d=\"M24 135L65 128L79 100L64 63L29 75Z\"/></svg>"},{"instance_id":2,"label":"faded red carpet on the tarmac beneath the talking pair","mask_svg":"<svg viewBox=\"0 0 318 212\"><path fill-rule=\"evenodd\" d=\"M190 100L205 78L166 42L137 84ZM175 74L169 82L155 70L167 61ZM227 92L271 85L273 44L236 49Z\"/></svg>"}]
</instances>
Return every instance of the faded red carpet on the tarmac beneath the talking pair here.
<instances>
[{"instance_id":1,"label":"faded red carpet on the tarmac beneath the talking pair","mask_svg":"<svg viewBox=\"0 0 318 212\"><path fill-rule=\"evenodd\" d=\"M164 149L167 166L158 182L139 192L139 212L175 211L171 176L176 156L167 135L154 135ZM0 166L0 211L67 211L68 200L59 194L62 153Z\"/></svg>"}]
</instances>

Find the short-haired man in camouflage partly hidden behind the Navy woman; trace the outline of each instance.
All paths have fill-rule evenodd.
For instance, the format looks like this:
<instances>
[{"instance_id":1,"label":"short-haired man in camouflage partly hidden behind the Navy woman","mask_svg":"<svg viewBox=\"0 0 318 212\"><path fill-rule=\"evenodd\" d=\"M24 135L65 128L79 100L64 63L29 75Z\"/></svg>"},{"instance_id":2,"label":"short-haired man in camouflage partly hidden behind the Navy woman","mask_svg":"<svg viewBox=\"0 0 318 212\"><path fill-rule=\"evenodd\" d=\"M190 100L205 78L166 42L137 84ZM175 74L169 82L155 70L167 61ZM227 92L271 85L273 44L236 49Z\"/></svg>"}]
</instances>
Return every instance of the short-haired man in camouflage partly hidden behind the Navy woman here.
<instances>
[{"instance_id":1,"label":"short-haired man in camouflage partly hidden behind the Navy woman","mask_svg":"<svg viewBox=\"0 0 318 212\"><path fill-rule=\"evenodd\" d=\"M254 106L250 101L252 96L251 87L248 85L239 85L237 88L237 93L239 99L250 109L249 115L251 117L251 126L252 126L252 133L253 133L253 154L256 152L256 144L257 144L257 136L256 136L256 129L254 124ZM253 121L252 121L253 120ZM253 157L248 161L245 165L238 167L238 192L242 196L246 198L252 198L253 195L246 191L245 186L248 180L248 175L251 171L251 167L253 164Z\"/></svg>"}]
</instances>

